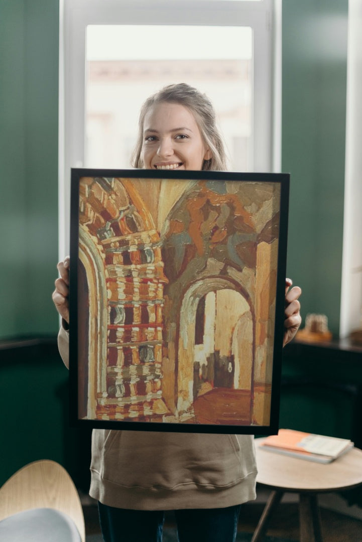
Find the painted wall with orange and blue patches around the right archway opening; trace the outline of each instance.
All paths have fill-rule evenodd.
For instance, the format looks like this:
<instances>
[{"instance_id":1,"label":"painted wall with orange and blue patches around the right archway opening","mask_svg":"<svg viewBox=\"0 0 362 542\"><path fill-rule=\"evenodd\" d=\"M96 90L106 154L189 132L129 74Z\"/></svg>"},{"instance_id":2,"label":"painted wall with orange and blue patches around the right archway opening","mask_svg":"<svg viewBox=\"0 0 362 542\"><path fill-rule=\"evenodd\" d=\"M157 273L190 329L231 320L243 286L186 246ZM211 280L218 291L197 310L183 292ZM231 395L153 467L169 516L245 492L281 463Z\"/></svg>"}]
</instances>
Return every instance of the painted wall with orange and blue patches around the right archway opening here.
<instances>
[{"instance_id":1,"label":"painted wall with orange and blue patches around the right archway opening","mask_svg":"<svg viewBox=\"0 0 362 542\"><path fill-rule=\"evenodd\" d=\"M176 416L187 414L188 409L192 415L195 331L191 321L198 300L213 288L216 292L239 291L247 299L252 315L248 317L249 342L253 343L251 423L263 424L268 416L266 389L271 384L274 337L270 322L275 309L279 234L279 207L274 207L277 190L279 186L272 183L196 182L167 216L161 231L169 280L165 286L163 392ZM241 326L242 322L235 326L231 338L234 349Z\"/></svg>"}]
</instances>

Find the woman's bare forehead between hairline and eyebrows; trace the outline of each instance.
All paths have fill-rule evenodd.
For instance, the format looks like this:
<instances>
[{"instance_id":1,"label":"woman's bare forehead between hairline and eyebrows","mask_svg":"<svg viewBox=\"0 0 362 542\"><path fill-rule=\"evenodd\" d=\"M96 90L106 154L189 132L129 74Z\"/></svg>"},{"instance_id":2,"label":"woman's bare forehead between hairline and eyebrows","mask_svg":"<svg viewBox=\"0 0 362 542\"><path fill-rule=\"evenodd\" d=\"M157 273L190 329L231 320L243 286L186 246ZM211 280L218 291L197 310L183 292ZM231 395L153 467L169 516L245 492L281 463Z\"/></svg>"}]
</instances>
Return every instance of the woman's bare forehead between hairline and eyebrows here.
<instances>
[{"instance_id":1,"label":"woman's bare forehead between hairline and eyebrows","mask_svg":"<svg viewBox=\"0 0 362 542\"><path fill-rule=\"evenodd\" d=\"M174 102L160 102L151 106L144 118L144 130L172 130L186 127L198 130L195 115L188 107Z\"/></svg>"}]
</instances>

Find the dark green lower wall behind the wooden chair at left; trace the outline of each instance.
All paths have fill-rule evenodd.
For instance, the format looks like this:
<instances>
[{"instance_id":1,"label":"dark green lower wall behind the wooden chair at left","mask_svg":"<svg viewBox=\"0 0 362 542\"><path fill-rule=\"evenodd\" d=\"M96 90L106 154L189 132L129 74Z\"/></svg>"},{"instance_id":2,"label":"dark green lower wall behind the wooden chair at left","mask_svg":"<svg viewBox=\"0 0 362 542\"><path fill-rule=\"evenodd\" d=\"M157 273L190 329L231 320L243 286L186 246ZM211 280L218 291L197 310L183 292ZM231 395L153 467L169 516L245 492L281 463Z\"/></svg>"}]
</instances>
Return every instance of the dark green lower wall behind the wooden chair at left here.
<instances>
[{"instance_id":1,"label":"dark green lower wall behind the wooden chair at left","mask_svg":"<svg viewBox=\"0 0 362 542\"><path fill-rule=\"evenodd\" d=\"M25 464L51 459L88 491L90 429L69 425L68 376L55 338L0 346L0 487Z\"/></svg>"}]
</instances>

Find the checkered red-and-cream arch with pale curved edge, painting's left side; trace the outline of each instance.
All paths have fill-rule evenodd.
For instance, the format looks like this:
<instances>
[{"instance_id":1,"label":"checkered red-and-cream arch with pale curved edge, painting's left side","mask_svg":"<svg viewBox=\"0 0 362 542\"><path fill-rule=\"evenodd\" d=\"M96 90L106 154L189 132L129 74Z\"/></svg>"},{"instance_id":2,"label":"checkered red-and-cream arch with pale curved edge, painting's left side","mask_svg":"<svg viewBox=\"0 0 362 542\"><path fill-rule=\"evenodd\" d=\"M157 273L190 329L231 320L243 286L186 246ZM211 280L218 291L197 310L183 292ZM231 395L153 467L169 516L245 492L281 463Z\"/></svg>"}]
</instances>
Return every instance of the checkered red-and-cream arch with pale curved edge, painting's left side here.
<instances>
[{"instance_id":1,"label":"checkered red-and-cream arch with pale curved edge, painting's left side","mask_svg":"<svg viewBox=\"0 0 362 542\"><path fill-rule=\"evenodd\" d=\"M167 280L152 216L132 179L91 177L80 181L79 224L90 307L82 353L89 366L87 417L161 416Z\"/></svg>"}]
</instances>

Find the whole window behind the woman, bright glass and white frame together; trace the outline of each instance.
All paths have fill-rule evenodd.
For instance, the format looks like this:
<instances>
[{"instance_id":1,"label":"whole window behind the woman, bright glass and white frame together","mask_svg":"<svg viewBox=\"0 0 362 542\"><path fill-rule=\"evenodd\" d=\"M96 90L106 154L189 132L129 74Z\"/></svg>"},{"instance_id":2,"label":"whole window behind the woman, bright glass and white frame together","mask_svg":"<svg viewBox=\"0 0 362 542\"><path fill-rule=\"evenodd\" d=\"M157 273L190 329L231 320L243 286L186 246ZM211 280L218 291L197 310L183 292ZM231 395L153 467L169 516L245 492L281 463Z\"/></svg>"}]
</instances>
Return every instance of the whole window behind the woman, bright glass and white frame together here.
<instances>
[{"instance_id":1,"label":"whole window behind the woman, bright glass and white frame together","mask_svg":"<svg viewBox=\"0 0 362 542\"><path fill-rule=\"evenodd\" d=\"M181 75L214 102L230 169L279 170L280 111L273 114L279 5L280 0L60 2L61 258L69 250L70 167L130 167L139 106ZM153 36L152 46L147 36ZM102 53L103 42L108 53ZM185 42L192 46L188 52ZM137 52L140 44L143 54ZM123 101L132 100L128 112L123 104L123 113L112 106L120 92Z\"/></svg>"}]
</instances>

